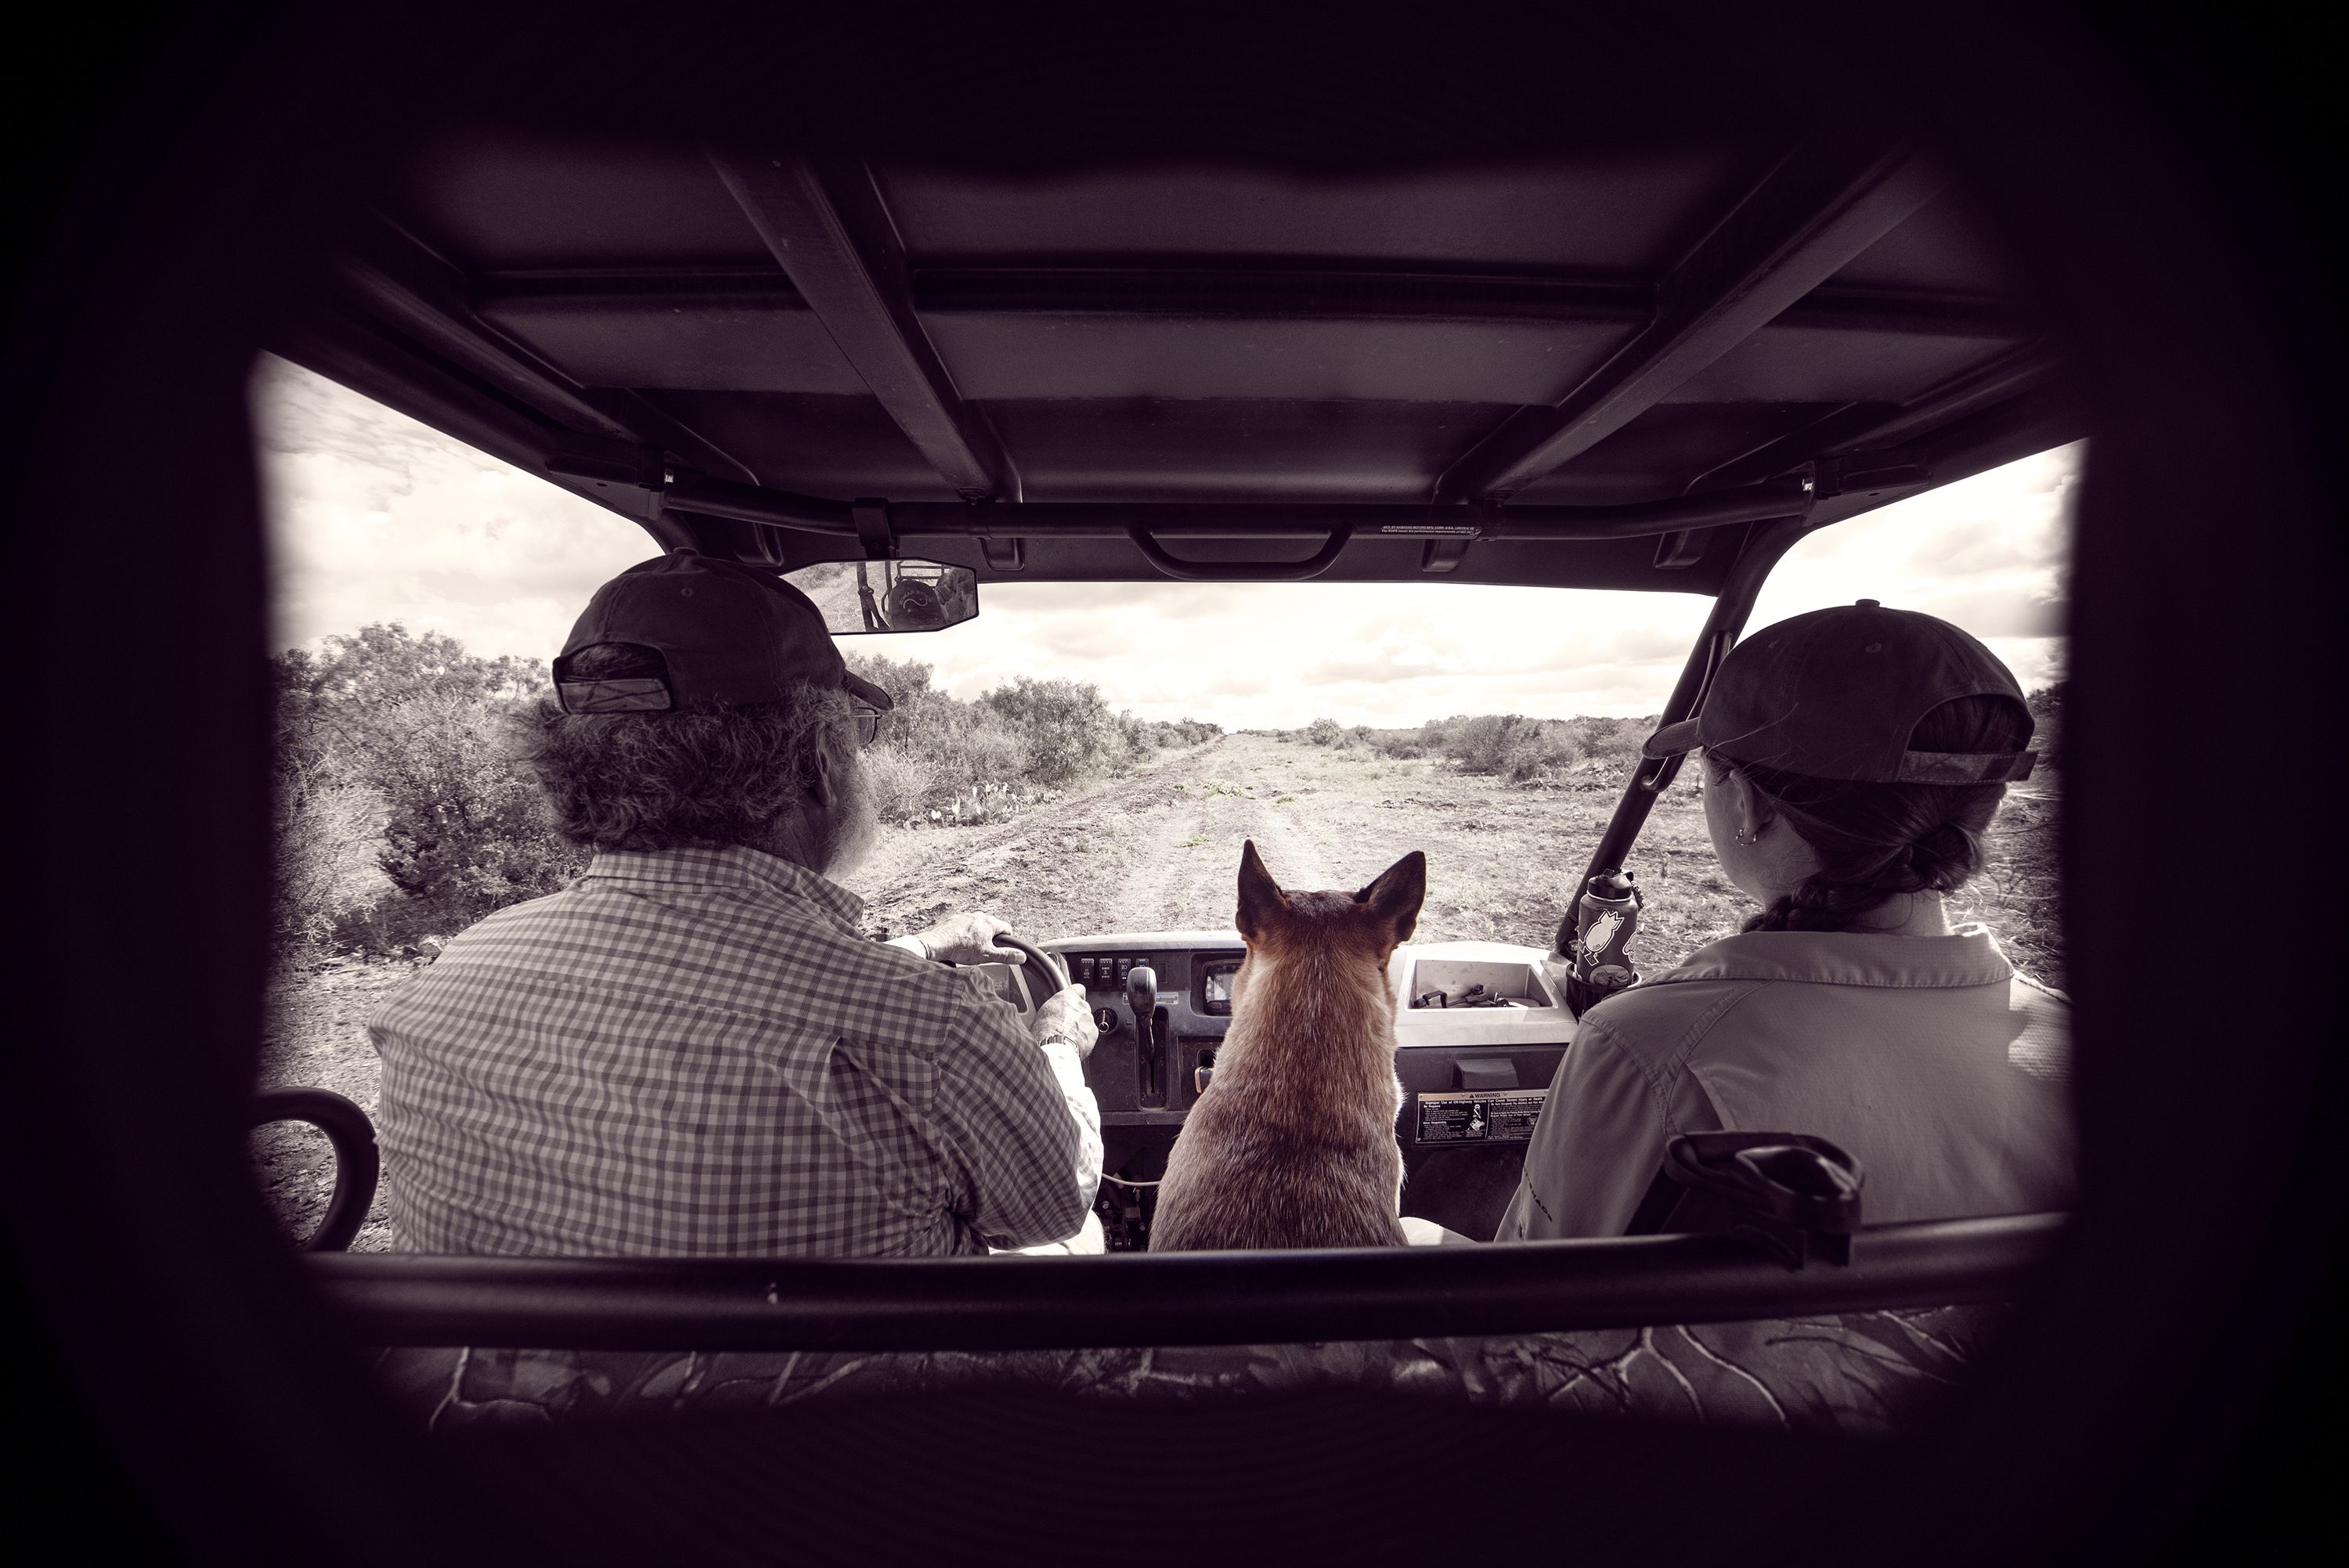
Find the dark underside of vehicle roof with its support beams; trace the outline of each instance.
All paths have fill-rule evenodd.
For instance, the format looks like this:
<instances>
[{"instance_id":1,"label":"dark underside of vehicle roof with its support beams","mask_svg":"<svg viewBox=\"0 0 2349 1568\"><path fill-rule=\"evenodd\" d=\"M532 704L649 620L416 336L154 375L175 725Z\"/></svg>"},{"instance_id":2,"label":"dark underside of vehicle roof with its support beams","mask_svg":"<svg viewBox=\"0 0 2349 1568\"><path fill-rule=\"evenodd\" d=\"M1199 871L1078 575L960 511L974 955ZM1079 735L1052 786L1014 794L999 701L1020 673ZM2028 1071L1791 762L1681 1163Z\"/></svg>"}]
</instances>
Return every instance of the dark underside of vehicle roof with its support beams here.
<instances>
[{"instance_id":1,"label":"dark underside of vehicle roof with its support beams","mask_svg":"<svg viewBox=\"0 0 2349 1568\"><path fill-rule=\"evenodd\" d=\"M442 129L277 345L667 545L987 580L1330 540L1327 580L1715 592L1764 516L2079 434L1992 225L1856 131L1308 169Z\"/></svg>"}]
</instances>

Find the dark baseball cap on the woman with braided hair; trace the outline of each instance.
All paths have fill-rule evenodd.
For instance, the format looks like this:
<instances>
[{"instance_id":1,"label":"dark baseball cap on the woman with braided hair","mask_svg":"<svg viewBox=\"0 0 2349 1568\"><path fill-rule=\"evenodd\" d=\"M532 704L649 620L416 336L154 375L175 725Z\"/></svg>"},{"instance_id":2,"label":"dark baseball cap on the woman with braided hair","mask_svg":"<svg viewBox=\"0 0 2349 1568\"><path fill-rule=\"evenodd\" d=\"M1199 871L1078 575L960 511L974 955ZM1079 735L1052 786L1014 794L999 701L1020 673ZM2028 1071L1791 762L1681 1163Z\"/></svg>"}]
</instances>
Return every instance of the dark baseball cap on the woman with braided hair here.
<instances>
[{"instance_id":1,"label":"dark baseball cap on the woman with braided hair","mask_svg":"<svg viewBox=\"0 0 2349 1568\"><path fill-rule=\"evenodd\" d=\"M1917 721L1957 697L2022 688L1990 648L1945 620L1875 599L1811 610L1729 650L1696 718L1647 737L1642 756L1694 746L1722 758L1860 784L1999 784L2027 779L2037 751L1910 751Z\"/></svg>"}]
</instances>

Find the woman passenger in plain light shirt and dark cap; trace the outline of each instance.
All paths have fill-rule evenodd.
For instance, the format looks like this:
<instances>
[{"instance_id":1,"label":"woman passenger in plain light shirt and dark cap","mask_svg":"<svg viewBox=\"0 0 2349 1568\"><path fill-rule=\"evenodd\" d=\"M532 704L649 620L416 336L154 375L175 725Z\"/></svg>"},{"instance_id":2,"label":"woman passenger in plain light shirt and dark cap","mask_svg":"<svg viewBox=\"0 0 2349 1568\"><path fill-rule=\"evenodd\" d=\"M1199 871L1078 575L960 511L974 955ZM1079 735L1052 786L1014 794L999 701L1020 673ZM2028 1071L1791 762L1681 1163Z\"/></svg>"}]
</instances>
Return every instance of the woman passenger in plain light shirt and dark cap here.
<instances>
[{"instance_id":1,"label":"woman passenger in plain light shirt and dark cap","mask_svg":"<svg viewBox=\"0 0 2349 1568\"><path fill-rule=\"evenodd\" d=\"M2027 777L2013 674L1950 622L1872 599L1766 627L1698 718L1722 873L1762 913L1583 1014L1501 1242L1623 1235L1687 1131L1823 1136L1865 1169L1865 1223L2060 1209L2072 1195L2069 1005L1943 894Z\"/></svg>"}]
</instances>

